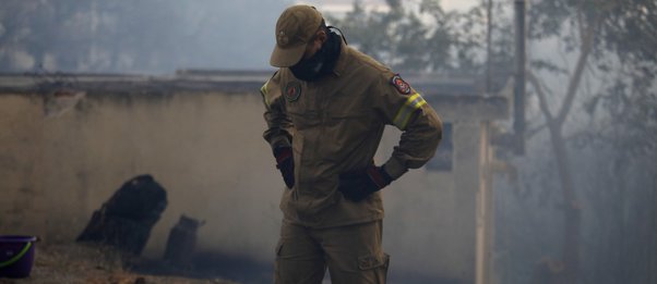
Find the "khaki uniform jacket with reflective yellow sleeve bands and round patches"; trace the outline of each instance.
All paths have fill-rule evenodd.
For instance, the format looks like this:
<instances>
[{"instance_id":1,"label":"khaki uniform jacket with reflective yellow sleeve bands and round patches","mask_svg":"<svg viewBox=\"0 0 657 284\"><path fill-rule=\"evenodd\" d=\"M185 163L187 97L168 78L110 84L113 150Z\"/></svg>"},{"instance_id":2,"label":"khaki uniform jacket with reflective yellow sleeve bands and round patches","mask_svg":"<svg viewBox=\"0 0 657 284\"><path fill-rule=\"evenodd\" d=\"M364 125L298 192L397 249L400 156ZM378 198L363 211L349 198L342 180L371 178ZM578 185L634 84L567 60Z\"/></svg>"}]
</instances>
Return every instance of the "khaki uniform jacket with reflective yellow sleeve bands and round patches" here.
<instances>
[{"instance_id":1,"label":"khaki uniform jacket with reflective yellow sleeve bands and round patches","mask_svg":"<svg viewBox=\"0 0 657 284\"><path fill-rule=\"evenodd\" d=\"M381 194L347 200L339 175L372 162L386 124L403 131L385 162L393 178L422 166L441 139L435 111L375 60L343 42L333 73L307 83L284 67L261 88L264 138L272 148L292 147L295 186L280 200L286 222L331 227L383 219Z\"/></svg>"}]
</instances>

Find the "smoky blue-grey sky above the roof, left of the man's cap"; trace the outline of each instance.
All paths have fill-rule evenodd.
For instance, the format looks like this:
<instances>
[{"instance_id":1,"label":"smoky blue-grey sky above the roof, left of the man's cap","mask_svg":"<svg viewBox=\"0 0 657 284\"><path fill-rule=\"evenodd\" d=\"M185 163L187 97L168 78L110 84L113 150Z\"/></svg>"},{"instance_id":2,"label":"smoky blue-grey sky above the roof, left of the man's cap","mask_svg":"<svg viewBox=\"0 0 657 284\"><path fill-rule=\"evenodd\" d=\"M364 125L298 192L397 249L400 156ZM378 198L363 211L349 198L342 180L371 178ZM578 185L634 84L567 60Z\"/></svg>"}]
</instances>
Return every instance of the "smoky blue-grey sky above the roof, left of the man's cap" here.
<instances>
[{"instance_id":1,"label":"smoky blue-grey sky above the roof, left of the man's cap","mask_svg":"<svg viewBox=\"0 0 657 284\"><path fill-rule=\"evenodd\" d=\"M0 71L267 70L276 18L288 4L9 0L0 8Z\"/></svg>"}]
</instances>

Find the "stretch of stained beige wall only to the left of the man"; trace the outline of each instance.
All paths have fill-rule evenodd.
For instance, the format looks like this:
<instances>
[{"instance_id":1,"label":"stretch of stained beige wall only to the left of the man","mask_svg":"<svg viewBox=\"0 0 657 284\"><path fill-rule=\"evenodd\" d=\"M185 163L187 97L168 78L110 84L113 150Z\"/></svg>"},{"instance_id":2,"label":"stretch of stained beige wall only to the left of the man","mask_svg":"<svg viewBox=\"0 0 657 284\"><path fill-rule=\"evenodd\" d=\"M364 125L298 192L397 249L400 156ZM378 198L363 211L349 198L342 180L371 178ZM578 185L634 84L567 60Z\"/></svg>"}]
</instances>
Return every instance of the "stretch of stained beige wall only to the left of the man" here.
<instances>
[{"instance_id":1,"label":"stretch of stained beige wall only to the left of the man","mask_svg":"<svg viewBox=\"0 0 657 284\"><path fill-rule=\"evenodd\" d=\"M40 98L0 96L1 231L74 238L128 178L151 173L169 206L150 247L181 213L207 220L203 244L260 254L277 233L280 187L256 95L87 97L59 118Z\"/></svg>"}]
</instances>

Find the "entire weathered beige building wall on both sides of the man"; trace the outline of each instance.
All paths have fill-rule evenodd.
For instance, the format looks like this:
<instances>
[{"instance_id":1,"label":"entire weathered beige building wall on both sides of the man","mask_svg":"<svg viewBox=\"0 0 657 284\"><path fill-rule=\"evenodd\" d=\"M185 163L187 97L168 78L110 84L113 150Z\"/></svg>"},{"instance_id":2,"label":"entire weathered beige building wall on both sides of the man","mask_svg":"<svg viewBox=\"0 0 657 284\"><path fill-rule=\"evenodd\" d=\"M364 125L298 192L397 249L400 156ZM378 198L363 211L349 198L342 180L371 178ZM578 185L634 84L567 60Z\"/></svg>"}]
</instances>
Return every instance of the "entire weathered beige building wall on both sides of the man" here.
<instances>
[{"instance_id":1,"label":"entire weathered beige building wall on both sides of the man","mask_svg":"<svg viewBox=\"0 0 657 284\"><path fill-rule=\"evenodd\" d=\"M0 234L73 239L124 181L150 173L169 206L147 254L163 254L186 213L207 221L202 246L273 261L283 182L259 95L96 95L58 118L43 104L0 95ZM396 271L471 282L479 123L454 125L453 172L415 170L384 189L384 248ZM386 131L378 162L398 135Z\"/></svg>"}]
</instances>

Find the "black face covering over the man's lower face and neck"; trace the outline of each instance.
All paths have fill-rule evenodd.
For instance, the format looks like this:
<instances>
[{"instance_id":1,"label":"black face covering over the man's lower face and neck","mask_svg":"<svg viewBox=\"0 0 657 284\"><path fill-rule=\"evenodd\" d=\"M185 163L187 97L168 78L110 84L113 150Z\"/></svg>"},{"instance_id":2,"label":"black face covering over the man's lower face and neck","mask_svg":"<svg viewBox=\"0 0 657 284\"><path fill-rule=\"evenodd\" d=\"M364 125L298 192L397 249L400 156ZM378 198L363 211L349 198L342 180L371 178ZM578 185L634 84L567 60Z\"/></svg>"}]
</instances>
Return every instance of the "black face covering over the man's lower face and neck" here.
<instances>
[{"instance_id":1,"label":"black face covering over the man's lower face and neck","mask_svg":"<svg viewBox=\"0 0 657 284\"><path fill-rule=\"evenodd\" d=\"M337 55L339 55L339 38L334 33L329 34L326 42L311 58L301 59L299 63L289 67L295 77L311 82L333 72Z\"/></svg>"}]
</instances>

